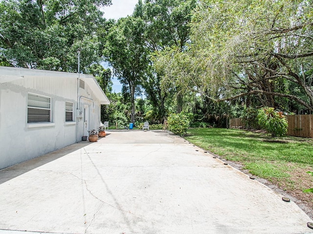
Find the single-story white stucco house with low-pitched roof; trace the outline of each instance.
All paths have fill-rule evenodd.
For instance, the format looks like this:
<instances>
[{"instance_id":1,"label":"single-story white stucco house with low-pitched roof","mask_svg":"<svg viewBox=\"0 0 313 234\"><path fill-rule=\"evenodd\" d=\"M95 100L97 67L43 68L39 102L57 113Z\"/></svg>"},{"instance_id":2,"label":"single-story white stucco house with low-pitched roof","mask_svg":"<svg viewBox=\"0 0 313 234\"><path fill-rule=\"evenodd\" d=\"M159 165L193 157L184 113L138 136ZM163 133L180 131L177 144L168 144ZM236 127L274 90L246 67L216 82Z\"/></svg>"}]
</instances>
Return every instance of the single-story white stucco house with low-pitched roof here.
<instances>
[{"instance_id":1,"label":"single-story white stucco house with low-pitched roof","mask_svg":"<svg viewBox=\"0 0 313 234\"><path fill-rule=\"evenodd\" d=\"M101 104L91 75L0 67L0 169L81 141Z\"/></svg>"}]
</instances>

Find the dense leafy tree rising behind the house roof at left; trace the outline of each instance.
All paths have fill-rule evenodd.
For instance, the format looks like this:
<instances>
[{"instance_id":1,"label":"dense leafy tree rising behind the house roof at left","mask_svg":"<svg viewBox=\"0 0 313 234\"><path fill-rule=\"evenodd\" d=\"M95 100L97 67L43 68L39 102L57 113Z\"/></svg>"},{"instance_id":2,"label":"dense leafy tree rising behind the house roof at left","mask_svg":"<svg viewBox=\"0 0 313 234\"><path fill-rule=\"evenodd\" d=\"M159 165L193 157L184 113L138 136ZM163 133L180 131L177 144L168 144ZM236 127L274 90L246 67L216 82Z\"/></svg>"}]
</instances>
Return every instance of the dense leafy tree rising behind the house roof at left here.
<instances>
[{"instance_id":1,"label":"dense leafy tree rising behind the house roof at left","mask_svg":"<svg viewBox=\"0 0 313 234\"><path fill-rule=\"evenodd\" d=\"M100 59L100 6L111 0L1 0L0 60L11 66L76 71Z\"/></svg>"}]
</instances>

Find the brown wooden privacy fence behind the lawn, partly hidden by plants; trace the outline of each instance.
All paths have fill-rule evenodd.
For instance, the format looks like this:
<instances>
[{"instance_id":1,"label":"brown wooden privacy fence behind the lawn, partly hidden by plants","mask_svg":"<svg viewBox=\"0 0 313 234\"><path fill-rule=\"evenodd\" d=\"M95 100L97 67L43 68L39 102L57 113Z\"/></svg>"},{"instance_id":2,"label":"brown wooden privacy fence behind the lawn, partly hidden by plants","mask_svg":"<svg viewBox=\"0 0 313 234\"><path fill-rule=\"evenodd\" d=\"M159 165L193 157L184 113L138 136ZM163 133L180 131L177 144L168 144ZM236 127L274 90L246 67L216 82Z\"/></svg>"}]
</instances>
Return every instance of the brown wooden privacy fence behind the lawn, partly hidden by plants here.
<instances>
[{"instance_id":1,"label":"brown wooden privacy fence behind the lawn, partly hidden by plants","mask_svg":"<svg viewBox=\"0 0 313 234\"><path fill-rule=\"evenodd\" d=\"M313 138L313 115L291 115L288 119L287 135L295 137ZM231 128L244 128L242 118L232 118L229 123Z\"/></svg>"}]
</instances>

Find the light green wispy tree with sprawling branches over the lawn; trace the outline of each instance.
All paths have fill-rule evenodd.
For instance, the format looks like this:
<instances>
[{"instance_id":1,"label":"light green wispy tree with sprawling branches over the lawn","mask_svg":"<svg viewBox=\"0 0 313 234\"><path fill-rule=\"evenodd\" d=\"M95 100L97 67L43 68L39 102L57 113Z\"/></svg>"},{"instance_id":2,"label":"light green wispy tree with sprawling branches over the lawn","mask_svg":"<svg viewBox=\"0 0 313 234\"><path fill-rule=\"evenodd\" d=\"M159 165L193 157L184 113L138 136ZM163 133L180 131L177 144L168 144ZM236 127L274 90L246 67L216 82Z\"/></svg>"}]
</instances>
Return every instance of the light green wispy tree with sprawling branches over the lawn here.
<instances>
[{"instance_id":1,"label":"light green wispy tree with sprawling branches over the lawn","mask_svg":"<svg viewBox=\"0 0 313 234\"><path fill-rule=\"evenodd\" d=\"M187 48L161 51L155 63L166 71L165 87L174 82L217 101L250 105L256 98L254 105L297 102L313 110L312 16L309 0L201 0Z\"/></svg>"}]
</instances>

